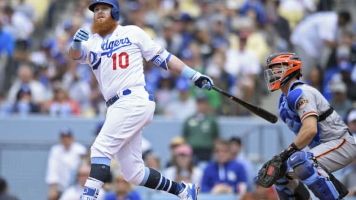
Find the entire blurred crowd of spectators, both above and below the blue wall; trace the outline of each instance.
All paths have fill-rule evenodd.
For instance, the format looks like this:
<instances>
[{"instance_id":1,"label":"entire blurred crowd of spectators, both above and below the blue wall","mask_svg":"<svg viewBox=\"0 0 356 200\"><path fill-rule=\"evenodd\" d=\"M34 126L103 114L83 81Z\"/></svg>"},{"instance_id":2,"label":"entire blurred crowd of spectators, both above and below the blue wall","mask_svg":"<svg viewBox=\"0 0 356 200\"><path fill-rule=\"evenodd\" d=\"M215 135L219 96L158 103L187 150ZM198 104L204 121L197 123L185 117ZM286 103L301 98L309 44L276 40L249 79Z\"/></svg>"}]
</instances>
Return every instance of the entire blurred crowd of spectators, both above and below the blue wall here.
<instances>
[{"instance_id":1,"label":"entire blurred crowd of spectators, both above and below the blue wall","mask_svg":"<svg viewBox=\"0 0 356 200\"><path fill-rule=\"evenodd\" d=\"M45 15L37 16L36 7L26 0L0 0L1 116L104 116L105 102L91 69L68 56L74 33L90 30L90 2L51 0ZM338 1L119 2L121 25L139 26L187 65L212 77L217 86L253 104L270 95L263 76L267 56L276 51L299 53L305 60L303 80L319 89L356 134L356 26L348 11L334 9ZM182 137L171 141L170 162L160 163L146 148L146 165L173 180L200 183L202 192L277 199L273 189L255 187L252 163L240 153L241 140L219 139L215 116L249 112L215 91L198 91L150 62L144 65L146 90L155 95L156 113L185 120ZM201 132L206 134L203 142ZM60 139L49 154L48 199L76 200L89 174L88 153L69 130L62 131ZM59 165L67 174L56 174ZM356 195L356 179L351 178L355 166L344 171L351 195ZM123 179L118 167L112 168L102 200L138 200L141 193ZM0 183L1 200L6 184Z\"/></svg>"}]
</instances>

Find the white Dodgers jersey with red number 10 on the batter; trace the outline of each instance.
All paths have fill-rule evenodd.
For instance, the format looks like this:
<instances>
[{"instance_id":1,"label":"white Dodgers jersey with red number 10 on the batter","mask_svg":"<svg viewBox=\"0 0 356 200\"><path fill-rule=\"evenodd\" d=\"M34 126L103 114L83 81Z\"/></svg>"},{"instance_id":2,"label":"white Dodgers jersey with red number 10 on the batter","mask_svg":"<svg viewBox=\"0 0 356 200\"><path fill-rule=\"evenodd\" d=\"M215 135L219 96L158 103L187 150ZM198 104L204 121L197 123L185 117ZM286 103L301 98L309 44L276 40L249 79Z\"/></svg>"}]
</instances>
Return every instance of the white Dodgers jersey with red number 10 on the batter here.
<instances>
[{"instance_id":1,"label":"white Dodgers jersey with red number 10 on the batter","mask_svg":"<svg viewBox=\"0 0 356 200\"><path fill-rule=\"evenodd\" d=\"M87 56L78 62L89 64L105 100L120 90L144 86L142 57L149 61L161 49L142 29L133 25L118 25L105 39L98 34L90 35L83 45Z\"/></svg>"}]
</instances>

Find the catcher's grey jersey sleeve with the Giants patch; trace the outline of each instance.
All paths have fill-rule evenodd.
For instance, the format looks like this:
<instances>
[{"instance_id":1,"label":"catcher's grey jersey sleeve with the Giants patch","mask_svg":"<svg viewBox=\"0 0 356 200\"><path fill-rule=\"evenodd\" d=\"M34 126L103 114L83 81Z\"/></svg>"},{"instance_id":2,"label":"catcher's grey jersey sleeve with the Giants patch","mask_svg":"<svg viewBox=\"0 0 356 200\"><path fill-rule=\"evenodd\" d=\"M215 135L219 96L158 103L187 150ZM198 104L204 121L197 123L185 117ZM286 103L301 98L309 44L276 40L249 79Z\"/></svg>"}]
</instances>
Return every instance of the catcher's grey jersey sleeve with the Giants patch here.
<instances>
[{"instance_id":1,"label":"catcher's grey jersey sleeve with the Giants patch","mask_svg":"<svg viewBox=\"0 0 356 200\"><path fill-rule=\"evenodd\" d=\"M298 100L296 113L299 115L301 121L311 115L317 114L317 107L314 95L309 90L303 90L302 97Z\"/></svg>"}]
</instances>

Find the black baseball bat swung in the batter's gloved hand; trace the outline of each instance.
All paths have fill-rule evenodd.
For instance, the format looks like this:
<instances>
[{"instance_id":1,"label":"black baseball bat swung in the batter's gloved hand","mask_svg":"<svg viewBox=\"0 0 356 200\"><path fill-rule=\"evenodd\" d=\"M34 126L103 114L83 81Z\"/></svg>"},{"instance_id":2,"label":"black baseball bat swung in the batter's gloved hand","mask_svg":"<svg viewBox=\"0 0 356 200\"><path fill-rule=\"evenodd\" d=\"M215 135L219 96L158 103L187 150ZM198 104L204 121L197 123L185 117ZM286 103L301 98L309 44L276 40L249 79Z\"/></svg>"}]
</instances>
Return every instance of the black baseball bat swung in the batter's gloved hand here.
<instances>
[{"instance_id":1,"label":"black baseball bat swung in the batter's gloved hand","mask_svg":"<svg viewBox=\"0 0 356 200\"><path fill-rule=\"evenodd\" d=\"M232 96L231 94L225 92L224 90L220 89L219 87L213 86L213 89L221 94L223 94L224 96L226 96L227 98L239 103L240 105L242 105L243 107L245 107L247 110L251 111L252 113L256 114L257 116L271 122L271 123L275 123L277 122L278 118L277 116L271 114L270 112L266 111L263 108L257 107L255 105L252 105L246 101L243 101L235 96Z\"/></svg>"}]
</instances>

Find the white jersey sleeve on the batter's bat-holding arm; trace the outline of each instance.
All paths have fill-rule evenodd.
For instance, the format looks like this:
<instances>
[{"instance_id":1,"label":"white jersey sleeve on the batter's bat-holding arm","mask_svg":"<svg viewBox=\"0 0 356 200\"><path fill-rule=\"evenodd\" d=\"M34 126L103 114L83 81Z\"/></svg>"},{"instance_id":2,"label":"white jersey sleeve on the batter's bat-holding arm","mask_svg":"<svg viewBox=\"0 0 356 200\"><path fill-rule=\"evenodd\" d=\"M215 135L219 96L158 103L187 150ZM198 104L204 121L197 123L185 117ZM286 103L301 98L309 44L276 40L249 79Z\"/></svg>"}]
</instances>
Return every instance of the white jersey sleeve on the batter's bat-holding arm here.
<instances>
[{"instance_id":1,"label":"white jersey sleeve on the batter's bat-holding arm","mask_svg":"<svg viewBox=\"0 0 356 200\"><path fill-rule=\"evenodd\" d=\"M153 41L146 32L139 27L135 27L137 45L141 49L142 56L146 61L150 61L162 48Z\"/></svg>"}]
</instances>

